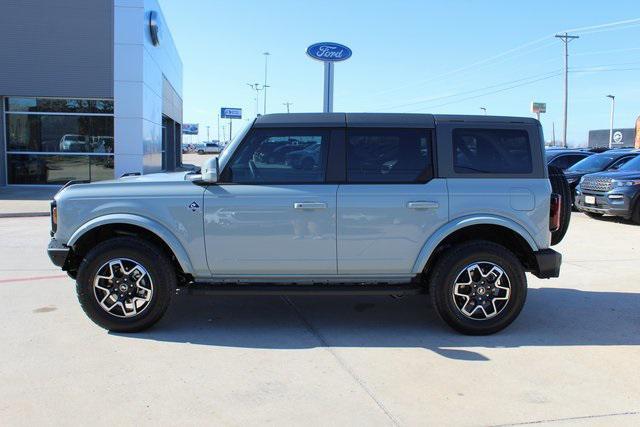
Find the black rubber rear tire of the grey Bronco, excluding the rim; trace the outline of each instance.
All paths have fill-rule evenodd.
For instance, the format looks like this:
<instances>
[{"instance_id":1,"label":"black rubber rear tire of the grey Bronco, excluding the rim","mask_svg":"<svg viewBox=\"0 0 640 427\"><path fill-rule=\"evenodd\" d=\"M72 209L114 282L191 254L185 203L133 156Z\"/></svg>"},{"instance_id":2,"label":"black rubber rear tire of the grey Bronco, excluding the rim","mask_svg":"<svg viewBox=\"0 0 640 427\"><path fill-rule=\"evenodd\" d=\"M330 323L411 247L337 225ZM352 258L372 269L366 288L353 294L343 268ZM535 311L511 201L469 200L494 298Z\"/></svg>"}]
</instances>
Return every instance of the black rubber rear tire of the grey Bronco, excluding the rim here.
<instances>
[{"instance_id":1,"label":"black rubber rear tire of the grey Bronco, excluding the rim","mask_svg":"<svg viewBox=\"0 0 640 427\"><path fill-rule=\"evenodd\" d=\"M470 318L456 306L456 279L473 263L495 264L508 277L510 298L494 317ZM453 246L438 258L429 275L429 292L438 316L450 327L466 335L488 335L506 328L518 317L527 298L527 279L522 263L511 251L493 242L476 240Z\"/></svg>"}]
</instances>

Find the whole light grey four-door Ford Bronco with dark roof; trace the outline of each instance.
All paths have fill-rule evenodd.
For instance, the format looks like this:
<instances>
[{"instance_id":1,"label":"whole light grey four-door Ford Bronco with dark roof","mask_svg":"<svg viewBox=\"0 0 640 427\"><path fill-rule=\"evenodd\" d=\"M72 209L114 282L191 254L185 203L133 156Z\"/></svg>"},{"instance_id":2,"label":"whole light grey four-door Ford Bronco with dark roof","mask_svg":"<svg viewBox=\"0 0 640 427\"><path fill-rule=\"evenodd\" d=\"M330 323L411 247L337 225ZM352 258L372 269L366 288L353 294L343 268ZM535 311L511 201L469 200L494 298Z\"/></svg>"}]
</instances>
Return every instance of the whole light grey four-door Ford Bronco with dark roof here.
<instances>
[{"instance_id":1,"label":"whole light grey four-door Ford Bronco with dark roof","mask_svg":"<svg viewBox=\"0 0 640 427\"><path fill-rule=\"evenodd\" d=\"M557 277L570 190L517 117L258 117L201 170L69 183L49 256L86 314L156 323L206 294L430 294L454 329L520 313L525 272Z\"/></svg>"}]
</instances>

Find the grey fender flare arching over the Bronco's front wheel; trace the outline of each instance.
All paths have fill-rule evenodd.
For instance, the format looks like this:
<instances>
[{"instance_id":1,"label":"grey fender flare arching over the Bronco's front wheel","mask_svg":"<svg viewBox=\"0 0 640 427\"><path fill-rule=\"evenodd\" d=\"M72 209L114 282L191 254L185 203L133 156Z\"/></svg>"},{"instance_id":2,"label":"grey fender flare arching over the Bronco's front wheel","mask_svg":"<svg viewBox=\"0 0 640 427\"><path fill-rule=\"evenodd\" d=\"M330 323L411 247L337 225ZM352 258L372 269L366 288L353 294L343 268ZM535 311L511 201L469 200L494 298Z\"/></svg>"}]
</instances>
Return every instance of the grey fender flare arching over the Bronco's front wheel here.
<instances>
[{"instance_id":1,"label":"grey fender flare arching over the Bronco's front wheel","mask_svg":"<svg viewBox=\"0 0 640 427\"><path fill-rule=\"evenodd\" d=\"M193 265L189 259L187 251L184 249L178 238L167 227L152 219L132 214L108 214L93 218L80 226L69 238L67 246L73 246L88 231L108 224L128 224L135 225L155 234L169 246L173 252L182 271L193 273Z\"/></svg>"}]
</instances>

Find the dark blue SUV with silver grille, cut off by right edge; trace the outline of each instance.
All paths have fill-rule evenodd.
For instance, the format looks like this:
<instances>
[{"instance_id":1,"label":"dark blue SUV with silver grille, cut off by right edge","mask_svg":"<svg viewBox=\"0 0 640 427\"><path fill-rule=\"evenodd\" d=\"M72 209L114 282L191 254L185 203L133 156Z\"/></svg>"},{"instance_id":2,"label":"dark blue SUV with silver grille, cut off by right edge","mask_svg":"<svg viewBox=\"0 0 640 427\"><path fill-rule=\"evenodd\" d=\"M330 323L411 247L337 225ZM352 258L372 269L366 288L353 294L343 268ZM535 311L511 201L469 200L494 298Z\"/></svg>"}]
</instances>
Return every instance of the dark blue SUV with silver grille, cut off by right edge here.
<instances>
[{"instance_id":1,"label":"dark blue SUV with silver grille, cut off by right edge","mask_svg":"<svg viewBox=\"0 0 640 427\"><path fill-rule=\"evenodd\" d=\"M576 206L589 216L615 215L640 224L640 156L615 172L585 175L576 190Z\"/></svg>"}]
</instances>

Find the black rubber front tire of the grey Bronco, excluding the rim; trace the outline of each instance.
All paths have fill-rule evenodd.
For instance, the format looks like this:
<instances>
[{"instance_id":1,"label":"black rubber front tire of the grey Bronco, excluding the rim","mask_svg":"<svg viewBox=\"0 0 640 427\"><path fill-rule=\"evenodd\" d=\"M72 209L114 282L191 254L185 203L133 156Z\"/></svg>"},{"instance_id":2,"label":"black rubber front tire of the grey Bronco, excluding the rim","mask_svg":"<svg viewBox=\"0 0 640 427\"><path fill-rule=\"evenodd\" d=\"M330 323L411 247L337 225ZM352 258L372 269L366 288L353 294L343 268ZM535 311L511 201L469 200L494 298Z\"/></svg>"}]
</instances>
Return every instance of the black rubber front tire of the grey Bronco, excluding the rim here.
<instances>
[{"instance_id":1,"label":"black rubber front tire of the grey Bronco, excluding the rim","mask_svg":"<svg viewBox=\"0 0 640 427\"><path fill-rule=\"evenodd\" d=\"M153 284L148 305L133 317L108 313L94 295L95 276L105 263L115 258L127 258L140 264L147 270ZM78 301L84 312L98 326L114 332L137 332L151 327L169 307L175 288L175 268L167 254L155 245L134 237L115 237L98 244L82 260L76 280Z\"/></svg>"}]
</instances>

